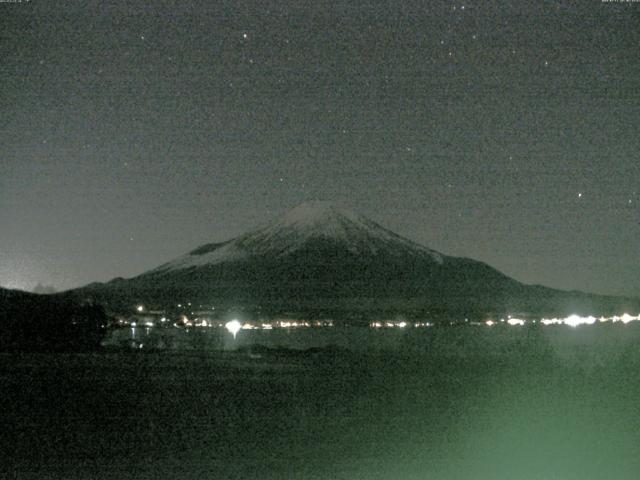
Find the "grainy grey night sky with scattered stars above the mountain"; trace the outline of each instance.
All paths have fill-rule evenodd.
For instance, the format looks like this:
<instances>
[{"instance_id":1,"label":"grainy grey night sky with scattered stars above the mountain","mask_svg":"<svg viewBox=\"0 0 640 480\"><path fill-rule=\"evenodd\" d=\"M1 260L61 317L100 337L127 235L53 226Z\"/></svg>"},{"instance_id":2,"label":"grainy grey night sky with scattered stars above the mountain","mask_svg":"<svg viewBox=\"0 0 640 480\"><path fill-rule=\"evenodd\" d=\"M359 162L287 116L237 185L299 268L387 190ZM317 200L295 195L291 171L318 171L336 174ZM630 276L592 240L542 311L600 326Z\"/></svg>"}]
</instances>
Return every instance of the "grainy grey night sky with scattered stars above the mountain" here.
<instances>
[{"instance_id":1,"label":"grainy grey night sky with scattered stars above the mountain","mask_svg":"<svg viewBox=\"0 0 640 480\"><path fill-rule=\"evenodd\" d=\"M4 287L133 276L324 199L640 296L640 3L4 1L0 108Z\"/></svg>"}]
</instances>

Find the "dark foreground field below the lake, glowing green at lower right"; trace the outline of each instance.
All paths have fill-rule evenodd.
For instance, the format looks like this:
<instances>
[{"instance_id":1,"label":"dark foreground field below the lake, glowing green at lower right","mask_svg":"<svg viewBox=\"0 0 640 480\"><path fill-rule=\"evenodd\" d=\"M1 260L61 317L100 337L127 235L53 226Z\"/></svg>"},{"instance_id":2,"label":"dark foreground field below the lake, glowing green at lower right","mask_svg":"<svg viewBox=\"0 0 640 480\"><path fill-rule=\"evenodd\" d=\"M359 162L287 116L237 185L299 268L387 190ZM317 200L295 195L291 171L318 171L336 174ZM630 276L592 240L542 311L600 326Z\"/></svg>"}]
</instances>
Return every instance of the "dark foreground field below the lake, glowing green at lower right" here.
<instances>
[{"instance_id":1,"label":"dark foreground field below the lake, glowing green at lower right","mask_svg":"<svg viewBox=\"0 0 640 480\"><path fill-rule=\"evenodd\" d=\"M637 479L640 351L0 356L0 478Z\"/></svg>"}]
</instances>

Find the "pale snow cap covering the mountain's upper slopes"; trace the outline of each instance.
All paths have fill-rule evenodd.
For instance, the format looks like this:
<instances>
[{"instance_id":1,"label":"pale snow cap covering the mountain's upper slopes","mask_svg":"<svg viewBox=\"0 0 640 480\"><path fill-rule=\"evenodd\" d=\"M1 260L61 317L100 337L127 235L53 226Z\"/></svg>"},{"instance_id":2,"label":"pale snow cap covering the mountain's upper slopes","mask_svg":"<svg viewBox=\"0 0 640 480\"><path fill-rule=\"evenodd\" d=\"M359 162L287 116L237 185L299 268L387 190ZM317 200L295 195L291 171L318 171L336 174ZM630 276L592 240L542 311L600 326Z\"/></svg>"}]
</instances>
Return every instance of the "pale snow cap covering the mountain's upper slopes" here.
<instances>
[{"instance_id":1,"label":"pale snow cap covering the mountain's upper slopes","mask_svg":"<svg viewBox=\"0 0 640 480\"><path fill-rule=\"evenodd\" d=\"M149 272L164 273L216 265L255 256L282 257L310 241L322 240L355 255L415 256L442 263L443 255L405 239L353 211L330 202L308 202L285 213L266 227L228 242L208 244Z\"/></svg>"}]
</instances>

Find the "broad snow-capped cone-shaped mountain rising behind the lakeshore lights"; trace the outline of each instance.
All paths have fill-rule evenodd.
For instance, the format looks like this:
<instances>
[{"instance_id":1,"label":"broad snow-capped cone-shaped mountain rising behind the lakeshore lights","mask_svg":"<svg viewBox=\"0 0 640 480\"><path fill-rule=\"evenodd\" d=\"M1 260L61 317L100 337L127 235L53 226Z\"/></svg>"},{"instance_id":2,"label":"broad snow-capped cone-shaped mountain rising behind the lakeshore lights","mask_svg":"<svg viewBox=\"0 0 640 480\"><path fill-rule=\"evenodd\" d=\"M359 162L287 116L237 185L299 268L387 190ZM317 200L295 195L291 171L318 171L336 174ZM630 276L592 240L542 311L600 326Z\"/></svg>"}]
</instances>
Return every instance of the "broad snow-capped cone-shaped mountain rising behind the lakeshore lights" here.
<instances>
[{"instance_id":1,"label":"broad snow-capped cone-shaped mountain rising behind the lakeshore lights","mask_svg":"<svg viewBox=\"0 0 640 480\"><path fill-rule=\"evenodd\" d=\"M229 241L72 294L113 310L139 302L164 308L190 302L261 316L344 318L604 314L637 306L632 299L522 284L485 263L436 252L327 202L302 204Z\"/></svg>"}]
</instances>

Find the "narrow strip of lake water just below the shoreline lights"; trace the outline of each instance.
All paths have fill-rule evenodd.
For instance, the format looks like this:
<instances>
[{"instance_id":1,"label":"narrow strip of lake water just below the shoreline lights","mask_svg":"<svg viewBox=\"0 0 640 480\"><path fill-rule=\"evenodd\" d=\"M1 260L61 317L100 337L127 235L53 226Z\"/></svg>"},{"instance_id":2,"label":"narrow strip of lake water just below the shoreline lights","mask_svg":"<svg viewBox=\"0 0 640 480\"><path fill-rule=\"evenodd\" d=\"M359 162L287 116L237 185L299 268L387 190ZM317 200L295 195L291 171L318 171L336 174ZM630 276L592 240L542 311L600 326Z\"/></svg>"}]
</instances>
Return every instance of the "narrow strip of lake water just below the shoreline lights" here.
<instances>
[{"instance_id":1,"label":"narrow strip of lake water just below the shoreline lights","mask_svg":"<svg viewBox=\"0 0 640 480\"><path fill-rule=\"evenodd\" d=\"M588 348L609 355L633 348L640 341L640 324L596 324L550 327L430 329L371 329L362 327L278 328L241 330L236 337L224 328L149 328L111 330L103 345L145 350L235 350L251 345L308 349L338 347L352 351L405 351L461 357L512 353L526 347L571 358Z\"/></svg>"}]
</instances>

